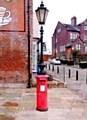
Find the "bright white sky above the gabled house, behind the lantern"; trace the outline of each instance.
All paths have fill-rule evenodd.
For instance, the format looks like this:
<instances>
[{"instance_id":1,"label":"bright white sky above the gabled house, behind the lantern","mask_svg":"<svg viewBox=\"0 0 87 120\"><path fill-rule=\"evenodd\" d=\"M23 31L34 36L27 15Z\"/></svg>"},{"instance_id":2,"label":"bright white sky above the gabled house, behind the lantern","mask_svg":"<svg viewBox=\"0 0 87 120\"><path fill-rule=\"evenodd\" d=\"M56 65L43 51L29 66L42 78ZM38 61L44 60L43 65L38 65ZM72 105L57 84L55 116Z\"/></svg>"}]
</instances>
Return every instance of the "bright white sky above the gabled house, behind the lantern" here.
<instances>
[{"instance_id":1,"label":"bright white sky above the gabled house, behind the lantern","mask_svg":"<svg viewBox=\"0 0 87 120\"><path fill-rule=\"evenodd\" d=\"M33 0L33 11L40 6L41 0ZM61 23L71 24L71 18L77 17L77 24L87 18L87 0L43 0L44 6L49 10L46 23L44 25L43 41L47 44L47 49L51 51L52 35L55 27Z\"/></svg>"}]
</instances>

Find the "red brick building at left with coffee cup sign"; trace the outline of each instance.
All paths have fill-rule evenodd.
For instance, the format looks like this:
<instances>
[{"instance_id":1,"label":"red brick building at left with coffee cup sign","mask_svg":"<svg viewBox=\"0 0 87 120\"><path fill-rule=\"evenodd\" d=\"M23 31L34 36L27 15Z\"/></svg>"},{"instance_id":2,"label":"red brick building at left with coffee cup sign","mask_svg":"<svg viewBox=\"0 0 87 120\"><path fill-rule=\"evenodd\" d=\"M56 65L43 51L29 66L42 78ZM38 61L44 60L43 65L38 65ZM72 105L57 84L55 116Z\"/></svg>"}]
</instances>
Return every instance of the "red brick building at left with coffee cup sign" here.
<instances>
[{"instance_id":1,"label":"red brick building at left with coffee cup sign","mask_svg":"<svg viewBox=\"0 0 87 120\"><path fill-rule=\"evenodd\" d=\"M33 0L0 0L0 81L31 79L32 39Z\"/></svg>"}]
</instances>

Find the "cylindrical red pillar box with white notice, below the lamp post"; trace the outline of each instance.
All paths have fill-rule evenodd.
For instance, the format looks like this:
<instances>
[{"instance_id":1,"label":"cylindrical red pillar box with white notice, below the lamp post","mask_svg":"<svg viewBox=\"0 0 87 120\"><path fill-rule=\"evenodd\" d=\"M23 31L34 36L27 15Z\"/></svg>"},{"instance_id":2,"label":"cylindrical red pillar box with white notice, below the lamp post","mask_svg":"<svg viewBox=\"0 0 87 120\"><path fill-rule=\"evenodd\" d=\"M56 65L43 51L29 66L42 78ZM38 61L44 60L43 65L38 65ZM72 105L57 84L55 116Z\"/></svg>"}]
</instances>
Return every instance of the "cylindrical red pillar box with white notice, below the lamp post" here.
<instances>
[{"instance_id":1,"label":"cylindrical red pillar box with white notice, below the lamp post","mask_svg":"<svg viewBox=\"0 0 87 120\"><path fill-rule=\"evenodd\" d=\"M47 111L47 80L48 75L36 75L36 109L39 111Z\"/></svg>"}]
</instances>

